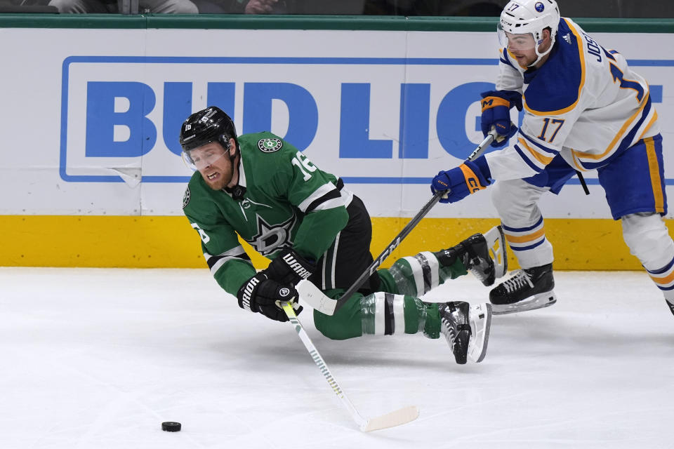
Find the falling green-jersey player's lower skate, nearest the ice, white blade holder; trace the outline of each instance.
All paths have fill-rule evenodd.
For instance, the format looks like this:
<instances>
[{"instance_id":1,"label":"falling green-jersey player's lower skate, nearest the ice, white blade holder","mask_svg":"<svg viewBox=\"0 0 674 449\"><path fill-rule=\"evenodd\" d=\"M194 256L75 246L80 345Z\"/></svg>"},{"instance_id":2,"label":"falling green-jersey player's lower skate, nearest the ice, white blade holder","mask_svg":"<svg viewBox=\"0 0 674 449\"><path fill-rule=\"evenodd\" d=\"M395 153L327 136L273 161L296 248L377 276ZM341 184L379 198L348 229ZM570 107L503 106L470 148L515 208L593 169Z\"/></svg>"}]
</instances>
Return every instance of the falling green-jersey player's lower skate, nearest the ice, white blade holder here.
<instances>
[{"instance_id":1,"label":"falling green-jersey player's lower skate, nearest the ice, white blade holder","mask_svg":"<svg viewBox=\"0 0 674 449\"><path fill-rule=\"evenodd\" d=\"M447 339L456 363L463 365L467 358L480 363L487 354L491 328L491 304L454 301L438 304L440 331Z\"/></svg>"}]
</instances>

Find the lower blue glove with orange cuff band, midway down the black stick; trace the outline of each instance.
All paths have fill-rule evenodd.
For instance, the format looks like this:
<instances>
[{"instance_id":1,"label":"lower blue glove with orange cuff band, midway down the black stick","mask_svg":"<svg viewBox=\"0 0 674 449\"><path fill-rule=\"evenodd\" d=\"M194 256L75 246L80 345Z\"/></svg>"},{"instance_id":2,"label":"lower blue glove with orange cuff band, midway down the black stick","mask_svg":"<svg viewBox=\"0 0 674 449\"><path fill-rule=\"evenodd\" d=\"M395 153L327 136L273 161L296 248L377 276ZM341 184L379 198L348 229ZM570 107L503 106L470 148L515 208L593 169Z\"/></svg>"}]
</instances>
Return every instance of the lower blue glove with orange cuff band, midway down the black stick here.
<instances>
[{"instance_id":1,"label":"lower blue glove with orange cuff band, midway down the black stick","mask_svg":"<svg viewBox=\"0 0 674 449\"><path fill-rule=\"evenodd\" d=\"M486 188L491 181L491 171L484 156L475 161L465 161L460 166L448 171L440 171L430 183L430 191L446 190L447 193L440 198L441 203L456 203L466 196Z\"/></svg>"}]
</instances>

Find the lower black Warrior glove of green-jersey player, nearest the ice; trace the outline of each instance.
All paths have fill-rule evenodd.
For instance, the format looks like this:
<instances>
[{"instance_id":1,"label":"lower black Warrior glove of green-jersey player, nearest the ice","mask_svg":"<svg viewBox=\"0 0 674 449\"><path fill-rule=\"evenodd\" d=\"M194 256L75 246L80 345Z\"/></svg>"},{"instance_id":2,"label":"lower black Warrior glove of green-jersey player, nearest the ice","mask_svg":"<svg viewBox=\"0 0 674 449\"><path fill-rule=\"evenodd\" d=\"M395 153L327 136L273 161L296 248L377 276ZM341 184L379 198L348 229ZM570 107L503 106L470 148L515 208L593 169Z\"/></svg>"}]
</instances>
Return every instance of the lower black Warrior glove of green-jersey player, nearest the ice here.
<instances>
[{"instance_id":1,"label":"lower black Warrior glove of green-jersey player, nearest the ice","mask_svg":"<svg viewBox=\"0 0 674 449\"><path fill-rule=\"evenodd\" d=\"M288 321L286 312L277 304L279 302L292 302L295 314L300 314L303 307L298 304L299 297L293 286L283 286L277 281L267 279L263 273L258 273L244 282L237 293L239 307L260 312L276 321Z\"/></svg>"}]
</instances>

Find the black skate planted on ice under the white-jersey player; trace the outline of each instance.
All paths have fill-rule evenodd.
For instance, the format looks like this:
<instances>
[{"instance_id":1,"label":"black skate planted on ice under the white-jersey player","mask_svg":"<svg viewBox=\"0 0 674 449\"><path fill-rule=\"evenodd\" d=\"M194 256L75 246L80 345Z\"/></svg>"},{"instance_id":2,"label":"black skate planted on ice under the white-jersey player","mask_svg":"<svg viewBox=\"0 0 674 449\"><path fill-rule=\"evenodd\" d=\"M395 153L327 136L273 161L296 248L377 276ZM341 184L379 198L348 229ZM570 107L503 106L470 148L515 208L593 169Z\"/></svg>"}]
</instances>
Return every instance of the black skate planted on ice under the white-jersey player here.
<instances>
[{"instance_id":1,"label":"black skate planted on ice under the white-jersey player","mask_svg":"<svg viewBox=\"0 0 674 449\"><path fill-rule=\"evenodd\" d=\"M494 315L540 309L557 302L553 289L553 264L513 272L513 277L498 284L489 292Z\"/></svg>"}]
</instances>

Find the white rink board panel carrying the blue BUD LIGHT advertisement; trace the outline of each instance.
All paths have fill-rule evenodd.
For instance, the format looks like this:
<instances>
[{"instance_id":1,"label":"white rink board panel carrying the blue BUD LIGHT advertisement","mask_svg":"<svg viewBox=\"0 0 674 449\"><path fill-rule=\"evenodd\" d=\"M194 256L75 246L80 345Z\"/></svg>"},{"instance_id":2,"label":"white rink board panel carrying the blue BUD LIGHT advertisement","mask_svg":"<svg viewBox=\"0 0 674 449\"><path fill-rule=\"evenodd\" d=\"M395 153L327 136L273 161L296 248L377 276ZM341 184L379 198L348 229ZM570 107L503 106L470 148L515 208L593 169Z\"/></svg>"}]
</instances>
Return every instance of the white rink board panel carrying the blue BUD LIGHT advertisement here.
<instances>
[{"instance_id":1,"label":"white rink board panel carrying the blue BUD LIGHT advertisement","mask_svg":"<svg viewBox=\"0 0 674 449\"><path fill-rule=\"evenodd\" d=\"M239 133L271 130L343 177L374 217L409 217L430 198L432 176L482 140L480 92L494 88L498 62L495 33L485 32L0 32L4 215L180 215L192 174L180 158L180 123L218 105ZM592 35L651 83L667 177L674 52L662 49L674 37ZM610 217L596 174L586 180L590 196L571 180L543 201L543 214ZM428 216L496 212L479 192Z\"/></svg>"}]
</instances>

